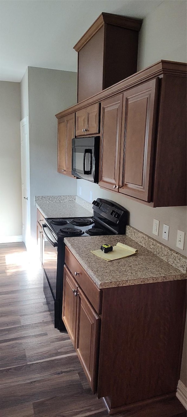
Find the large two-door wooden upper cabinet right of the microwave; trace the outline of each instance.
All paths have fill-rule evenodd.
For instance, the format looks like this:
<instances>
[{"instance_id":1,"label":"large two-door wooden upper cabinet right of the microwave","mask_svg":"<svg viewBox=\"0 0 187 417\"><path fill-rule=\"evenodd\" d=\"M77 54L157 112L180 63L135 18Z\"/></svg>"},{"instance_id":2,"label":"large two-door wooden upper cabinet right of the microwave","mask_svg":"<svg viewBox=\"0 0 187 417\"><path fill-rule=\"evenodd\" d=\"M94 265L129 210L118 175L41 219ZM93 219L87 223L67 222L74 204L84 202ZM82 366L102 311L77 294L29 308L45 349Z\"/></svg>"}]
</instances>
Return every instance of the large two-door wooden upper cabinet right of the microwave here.
<instances>
[{"instance_id":1,"label":"large two-door wooden upper cabinet right of the microwave","mask_svg":"<svg viewBox=\"0 0 187 417\"><path fill-rule=\"evenodd\" d=\"M99 185L152 207L186 206L186 64L160 61L114 91L122 85L121 138L102 102Z\"/></svg>"}]
</instances>

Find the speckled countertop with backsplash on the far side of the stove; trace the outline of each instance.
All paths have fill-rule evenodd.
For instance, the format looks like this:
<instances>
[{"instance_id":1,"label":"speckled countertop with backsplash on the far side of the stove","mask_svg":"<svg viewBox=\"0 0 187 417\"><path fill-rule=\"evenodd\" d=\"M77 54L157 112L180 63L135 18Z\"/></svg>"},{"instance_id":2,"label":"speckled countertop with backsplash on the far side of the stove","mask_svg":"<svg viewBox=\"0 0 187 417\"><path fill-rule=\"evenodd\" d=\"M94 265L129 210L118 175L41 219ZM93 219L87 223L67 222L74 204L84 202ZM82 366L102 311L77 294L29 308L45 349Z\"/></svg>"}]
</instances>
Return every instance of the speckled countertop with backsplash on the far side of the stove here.
<instances>
[{"instance_id":1,"label":"speckled countertop with backsplash on the far side of the stove","mask_svg":"<svg viewBox=\"0 0 187 417\"><path fill-rule=\"evenodd\" d=\"M92 216L92 212L76 203L76 196L35 196L35 206L45 218Z\"/></svg>"}]
</instances>

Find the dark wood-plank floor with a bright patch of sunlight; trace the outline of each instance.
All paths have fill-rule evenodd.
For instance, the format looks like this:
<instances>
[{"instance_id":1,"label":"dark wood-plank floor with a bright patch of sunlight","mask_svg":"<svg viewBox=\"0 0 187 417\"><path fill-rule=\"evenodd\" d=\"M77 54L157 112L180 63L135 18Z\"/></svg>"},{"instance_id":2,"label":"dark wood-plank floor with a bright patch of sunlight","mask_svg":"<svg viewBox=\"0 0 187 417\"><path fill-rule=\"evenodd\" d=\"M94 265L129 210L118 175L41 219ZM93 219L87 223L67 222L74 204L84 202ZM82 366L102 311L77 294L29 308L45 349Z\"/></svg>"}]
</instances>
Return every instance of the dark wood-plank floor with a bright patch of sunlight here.
<instances>
[{"instance_id":1,"label":"dark wood-plank floor with a bright patch of sunlight","mask_svg":"<svg viewBox=\"0 0 187 417\"><path fill-rule=\"evenodd\" d=\"M162 411L161 411L162 408ZM24 244L0 245L1 417L105 417L67 333L54 329L42 291L39 263ZM118 414L119 415L119 414ZM120 416L186 417L171 399Z\"/></svg>"}]
</instances>

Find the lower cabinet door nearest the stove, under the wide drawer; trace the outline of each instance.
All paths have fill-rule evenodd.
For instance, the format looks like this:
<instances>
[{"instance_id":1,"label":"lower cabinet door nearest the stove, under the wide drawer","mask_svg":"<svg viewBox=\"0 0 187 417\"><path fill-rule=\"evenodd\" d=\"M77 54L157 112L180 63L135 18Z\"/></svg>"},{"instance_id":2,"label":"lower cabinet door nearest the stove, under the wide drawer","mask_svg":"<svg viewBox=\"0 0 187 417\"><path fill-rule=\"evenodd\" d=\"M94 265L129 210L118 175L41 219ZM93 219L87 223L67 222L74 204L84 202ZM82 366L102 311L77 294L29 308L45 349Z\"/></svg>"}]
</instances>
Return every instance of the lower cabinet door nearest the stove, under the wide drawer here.
<instances>
[{"instance_id":1,"label":"lower cabinet door nearest the stove, under the wide drawer","mask_svg":"<svg viewBox=\"0 0 187 417\"><path fill-rule=\"evenodd\" d=\"M67 332L75 347L75 326L77 312L77 282L64 266L64 282L63 282L63 299L62 299L62 320L65 324Z\"/></svg>"}]
</instances>

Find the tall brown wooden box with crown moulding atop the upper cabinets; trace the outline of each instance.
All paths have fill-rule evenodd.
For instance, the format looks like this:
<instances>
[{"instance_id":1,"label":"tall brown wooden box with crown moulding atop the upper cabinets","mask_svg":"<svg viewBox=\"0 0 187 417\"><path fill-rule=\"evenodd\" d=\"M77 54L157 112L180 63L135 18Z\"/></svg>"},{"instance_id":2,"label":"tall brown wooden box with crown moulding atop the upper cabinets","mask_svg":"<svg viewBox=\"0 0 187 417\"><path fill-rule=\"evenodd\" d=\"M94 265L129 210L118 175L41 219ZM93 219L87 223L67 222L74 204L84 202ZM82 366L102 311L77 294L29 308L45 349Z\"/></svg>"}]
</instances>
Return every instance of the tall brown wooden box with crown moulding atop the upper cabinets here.
<instances>
[{"instance_id":1,"label":"tall brown wooden box with crown moulding atop the upper cabinets","mask_svg":"<svg viewBox=\"0 0 187 417\"><path fill-rule=\"evenodd\" d=\"M101 13L76 43L78 103L137 71L142 20Z\"/></svg>"}]
</instances>

